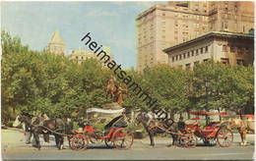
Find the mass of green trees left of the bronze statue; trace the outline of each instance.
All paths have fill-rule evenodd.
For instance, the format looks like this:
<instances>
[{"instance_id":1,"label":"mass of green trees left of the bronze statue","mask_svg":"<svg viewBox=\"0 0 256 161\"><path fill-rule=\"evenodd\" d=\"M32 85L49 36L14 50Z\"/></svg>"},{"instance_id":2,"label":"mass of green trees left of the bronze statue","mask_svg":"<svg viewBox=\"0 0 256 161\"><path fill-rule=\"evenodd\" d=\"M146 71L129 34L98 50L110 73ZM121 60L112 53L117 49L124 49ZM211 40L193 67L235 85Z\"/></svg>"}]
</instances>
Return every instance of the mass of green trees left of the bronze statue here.
<instances>
[{"instance_id":1,"label":"mass of green trees left of the bronze statue","mask_svg":"<svg viewBox=\"0 0 256 161\"><path fill-rule=\"evenodd\" d=\"M14 118L17 111L45 112L49 117L85 116L85 110L100 107L105 99L109 71L94 60L78 65L46 51L30 51L17 37L2 32L2 116Z\"/></svg>"}]
</instances>

